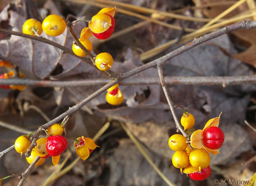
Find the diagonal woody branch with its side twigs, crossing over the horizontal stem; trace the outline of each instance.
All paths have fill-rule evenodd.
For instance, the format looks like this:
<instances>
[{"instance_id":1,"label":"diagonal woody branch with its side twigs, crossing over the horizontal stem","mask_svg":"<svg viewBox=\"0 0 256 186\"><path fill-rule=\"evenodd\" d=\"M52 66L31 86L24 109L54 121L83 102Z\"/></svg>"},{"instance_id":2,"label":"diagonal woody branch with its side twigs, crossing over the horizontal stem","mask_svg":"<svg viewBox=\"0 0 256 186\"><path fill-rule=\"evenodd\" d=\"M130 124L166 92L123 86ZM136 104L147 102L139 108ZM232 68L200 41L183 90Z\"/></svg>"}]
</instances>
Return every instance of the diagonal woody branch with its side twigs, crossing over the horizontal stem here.
<instances>
[{"instance_id":1,"label":"diagonal woody branch with its side twigs, crossing over the horizontal stem","mask_svg":"<svg viewBox=\"0 0 256 186\"><path fill-rule=\"evenodd\" d=\"M243 21L240 21L236 24L232 24L230 26L227 26L227 27L224 27L222 29L219 29L217 30L216 32L213 32L213 33L210 33L208 35L205 35L205 36L202 36L202 37L199 37L197 39L194 39L192 42L178 48L177 50L165 55L165 56L162 56L154 61L151 61L145 65L142 65L140 67L137 67L131 71L128 71L124 74L118 74L118 77L109 82L108 84L106 84L105 86L101 87L98 91L96 91L95 93L92 93L90 96L88 96L87 98L85 98L84 100L82 100L81 102L79 102L77 105L71 107L68 111L60 114L58 117L56 117L55 119L51 120L50 122L42 125L41 127L39 127L38 130L36 130L35 134L33 135L33 140L32 140L32 143L31 143L31 146L30 148L27 150L26 152L26 156L29 156L30 155L30 152L31 150L33 149L34 145L35 145L35 142L36 140L38 139L40 133L42 132L42 130L46 130L49 126L51 126L52 124L54 123L57 123L60 119L63 119L64 117L78 111L81 107L83 107L85 104L87 104L89 101L91 101L92 99L94 99L95 97L97 97L100 93L103 93L104 91L106 91L108 88L110 88L111 86L115 85L116 83L118 83L119 81L121 80L124 80L132 75L135 75L135 74L138 74L144 70L147 70L151 67L155 67L155 66L158 66L158 74L159 74L159 77L160 77L160 82L161 82L161 85L162 85L162 88L163 88L163 91L166 95L166 98L167 98L167 101L168 101L168 104L170 106L170 109L171 109L171 112L174 116L174 120L175 120L175 123L177 125L177 128L181 131L181 133L184 135L184 136L187 136L187 134L185 133L184 130L182 130L180 124L179 124L179 121L177 120L177 116L174 112L174 104L167 92L167 89L165 87L165 82L164 82L164 77L163 77L163 70L162 70L162 65L168 61L169 59L197 46L198 44L201 44L205 41L208 41L210 39L213 39L215 37L218 37L218 36L221 36L221 35L224 35L228 32L231 32L231 31L234 31L234 30L238 30L238 29L250 29L250 28L255 28L256 27L256 21L246 21L246 20L243 20ZM31 39L35 39L35 40L39 40L41 42L45 42L47 44L51 44L53 46L56 46L58 48L60 48L61 50L63 50L63 52L66 52L66 53L69 53L71 55L74 55L73 52L71 52L71 50L67 49L66 47L63 47L61 45L59 45L58 43L55 43L55 42L52 42L48 39L44 39L44 38L41 38L41 37L34 37L34 36L29 36L29 35L24 35L22 33L18 33L18 32L13 32L13 31L6 31L4 29L0 29L0 31L4 31L4 32L7 32L9 34L13 34L13 35L17 35L17 36L21 36L21 37L27 37L27 38L31 38ZM81 46L82 48L82 46ZM80 58L80 57L79 57ZM82 60L85 60L85 58L80 58ZM88 62L88 60L86 60ZM89 63L91 64L91 63ZM92 64L91 64L92 65ZM23 173L23 177L22 179L20 180L20 183L19 183L19 186L23 183L23 181L25 180L27 174L31 171L31 169L34 167L34 165L36 164L36 162L39 160L39 157L37 157L34 162L27 168L27 170Z\"/></svg>"}]
</instances>

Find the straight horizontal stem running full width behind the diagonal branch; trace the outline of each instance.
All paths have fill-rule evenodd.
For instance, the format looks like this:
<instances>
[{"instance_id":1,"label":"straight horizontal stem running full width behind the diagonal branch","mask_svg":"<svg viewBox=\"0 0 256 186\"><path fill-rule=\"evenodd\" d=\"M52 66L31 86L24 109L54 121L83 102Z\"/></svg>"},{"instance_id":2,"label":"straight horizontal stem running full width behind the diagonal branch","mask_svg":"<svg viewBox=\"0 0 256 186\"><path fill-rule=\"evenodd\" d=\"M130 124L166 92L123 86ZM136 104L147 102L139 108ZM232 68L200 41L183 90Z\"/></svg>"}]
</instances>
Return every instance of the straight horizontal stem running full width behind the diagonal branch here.
<instances>
[{"instance_id":1,"label":"straight horizontal stem running full width behind the diagonal branch","mask_svg":"<svg viewBox=\"0 0 256 186\"><path fill-rule=\"evenodd\" d=\"M166 85L243 85L256 84L256 75L241 76L165 76ZM106 78L81 80L34 80L25 78L0 79L0 85L26 85L37 87L84 87L105 85L111 80ZM131 77L119 83L120 85L158 85L158 77Z\"/></svg>"}]
</instances>

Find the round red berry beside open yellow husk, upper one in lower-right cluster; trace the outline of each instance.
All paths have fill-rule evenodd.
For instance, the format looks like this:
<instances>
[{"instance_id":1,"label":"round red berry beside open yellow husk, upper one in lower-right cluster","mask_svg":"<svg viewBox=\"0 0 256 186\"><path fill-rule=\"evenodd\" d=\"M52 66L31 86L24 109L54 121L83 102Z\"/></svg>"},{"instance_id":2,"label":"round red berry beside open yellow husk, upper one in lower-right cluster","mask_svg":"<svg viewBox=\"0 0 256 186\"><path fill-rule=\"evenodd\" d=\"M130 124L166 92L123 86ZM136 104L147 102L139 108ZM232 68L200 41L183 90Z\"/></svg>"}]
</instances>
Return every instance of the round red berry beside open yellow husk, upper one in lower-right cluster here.
<instances>
[{"instance_id":1,"label":"round red berry beside open yellow husk, upper one in lower-right cluster","mask_svg":"<svg viewBox=\"0 0 256 186\"><path fill-rule=\"evenodd\" d=\"M219 149L224 142L224 133L218 127L203 131L203 145L209 149Z\"/></svg>"}]
</instances>

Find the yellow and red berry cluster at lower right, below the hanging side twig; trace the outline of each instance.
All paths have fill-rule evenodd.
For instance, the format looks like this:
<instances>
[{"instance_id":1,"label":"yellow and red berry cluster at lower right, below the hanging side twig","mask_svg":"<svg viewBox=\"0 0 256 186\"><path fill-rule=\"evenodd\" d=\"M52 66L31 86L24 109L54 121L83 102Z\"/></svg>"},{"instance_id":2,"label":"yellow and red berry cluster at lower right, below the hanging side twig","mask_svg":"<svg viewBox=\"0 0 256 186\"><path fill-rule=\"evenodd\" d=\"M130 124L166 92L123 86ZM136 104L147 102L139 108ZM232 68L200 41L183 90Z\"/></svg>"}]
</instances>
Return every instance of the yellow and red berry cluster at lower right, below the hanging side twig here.
<instances>
[{"instance_id":1,"label":"yellow and red berry cluster at lower right, below the hanging side twig","mask_svg":"<svg viewBox=\"0 0 256 186\"><path fill-rule=\"evenodd\" d=\"M219 117L210 119L203 130L193 132L190 142L181 134L174 134L168 140L169 147L176 151L172 157L174 167L180 168L180 172L189 174L193 180L204 180L211 175L209 153L216 155L224 142L224 134L218 128ZM184 112L181 117L184 130L192 128L194 124L194 116Z\"/></svg>"}]
</instances>

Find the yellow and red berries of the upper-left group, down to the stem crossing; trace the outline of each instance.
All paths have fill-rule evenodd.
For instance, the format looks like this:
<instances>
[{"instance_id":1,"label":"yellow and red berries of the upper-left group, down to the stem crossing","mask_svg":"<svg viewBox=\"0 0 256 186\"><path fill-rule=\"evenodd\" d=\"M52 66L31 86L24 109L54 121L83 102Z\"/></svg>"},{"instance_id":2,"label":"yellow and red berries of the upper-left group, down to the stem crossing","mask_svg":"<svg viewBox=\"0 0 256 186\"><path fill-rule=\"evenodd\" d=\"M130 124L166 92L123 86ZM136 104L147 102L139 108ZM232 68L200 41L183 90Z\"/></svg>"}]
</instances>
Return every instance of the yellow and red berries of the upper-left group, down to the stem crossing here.
<instances>
[{"instance_id":1,"label":"yellow and red berries of the upper-left group, down to the stem crossing","mask_svg":"<svg viewBox=\"0 0 256 186\"><path fill-rule=\"evenodd\" d=\"M109 38L115 29L116 8L103 8L89 21L88 27L82 29L79 41L91 52L93 45L88 39L93 35L98 39ZM58 15L46 17L42 24L35 19L28 19L23 24L23 33L39 36L44 31L49 36L59 36L65 30L66 23ZM86 56L86 53L76 44L72 45L74 54L80 57ZM109 70L113 65L113 57L109 53L100 53L95 57L95 65L100 71ZM111 105L120 105L123 102L123 94L118 88L118 84L107 90L106 101Z\"/></svg>"}]
</instances>

